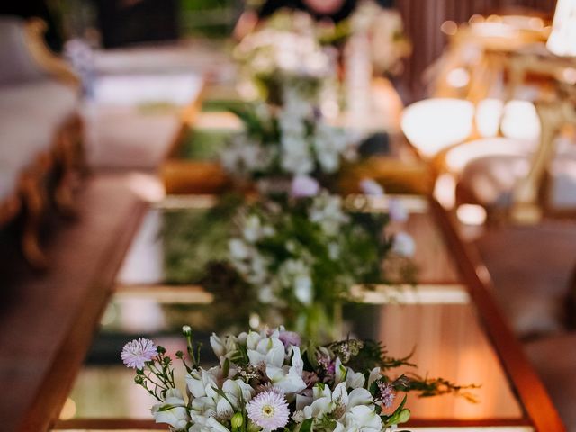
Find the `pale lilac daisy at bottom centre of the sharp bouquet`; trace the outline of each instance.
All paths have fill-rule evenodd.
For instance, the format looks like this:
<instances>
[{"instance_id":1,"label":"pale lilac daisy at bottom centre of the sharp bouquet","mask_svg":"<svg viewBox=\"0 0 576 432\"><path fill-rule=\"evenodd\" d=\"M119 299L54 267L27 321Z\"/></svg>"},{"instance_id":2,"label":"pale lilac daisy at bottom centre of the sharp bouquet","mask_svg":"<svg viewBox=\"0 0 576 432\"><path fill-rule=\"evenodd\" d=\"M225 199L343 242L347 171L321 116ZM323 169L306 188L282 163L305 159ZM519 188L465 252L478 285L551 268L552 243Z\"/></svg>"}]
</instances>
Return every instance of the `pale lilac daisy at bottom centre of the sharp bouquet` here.
<instances>
[{"instance_id":1,"label":"pale lilac daisy at bottom centre of the sharp bouquet","mask_svg":"<svg viewBox=\"0 0 576 432\"><path fill-rule=\"evenodd\" d=\"M288 401L284 394L275 390L261 392L247 404L248 418L265 432L284 428L290 418Z\"/></svg>"}]
</instances>

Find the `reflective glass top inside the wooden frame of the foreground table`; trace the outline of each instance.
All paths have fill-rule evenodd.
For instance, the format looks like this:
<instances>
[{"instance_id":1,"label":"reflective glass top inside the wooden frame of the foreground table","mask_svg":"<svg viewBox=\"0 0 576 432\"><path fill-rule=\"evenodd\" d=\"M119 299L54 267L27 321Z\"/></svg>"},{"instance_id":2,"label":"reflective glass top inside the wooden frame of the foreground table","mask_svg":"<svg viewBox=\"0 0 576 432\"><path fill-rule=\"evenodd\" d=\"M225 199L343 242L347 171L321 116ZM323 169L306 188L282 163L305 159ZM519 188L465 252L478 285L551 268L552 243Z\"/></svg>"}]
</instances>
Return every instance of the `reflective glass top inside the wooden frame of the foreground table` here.
<instances>
[{"instance_id":1,"label":"reflective glass top inside the wooden frame of the foreground table","mask_svg":"<svg viewBox=\"0 0 576 432\"><path fill-rule=\"evenodd\" d=\"M418 284L392 290L379 286L370 292L358 288L363 301L344 305L342 334L382 341L396 357L407 356L414 348L411 360L418 368L410 372L480 385L470 390L475 403L452 394L433 398L410 395L410 430L534 430L458 275L427 199L394 198L409 212L408 220L394 223L401 223L401 229L415 238ZM146 336L175 353L185 348L184 338L179 336L184 324L193 327L204 347L210 347L212 331L238 331L259 324L257 317L235 316L233 305L219 304L197 284L174 284L176 276L169 273L174 268L166 257L175 252L166 233L177 230L178 220L193 226L194 218L212 203L211 197L180 197L149 211L56 428L157 428L149 414L153 401L133 383L133 371L121 365L121 347L131 338ZM381 204L385 209L386 200ZM202 358L211 362L210 350L204 351Z\"/></svg>"}]
</instances>

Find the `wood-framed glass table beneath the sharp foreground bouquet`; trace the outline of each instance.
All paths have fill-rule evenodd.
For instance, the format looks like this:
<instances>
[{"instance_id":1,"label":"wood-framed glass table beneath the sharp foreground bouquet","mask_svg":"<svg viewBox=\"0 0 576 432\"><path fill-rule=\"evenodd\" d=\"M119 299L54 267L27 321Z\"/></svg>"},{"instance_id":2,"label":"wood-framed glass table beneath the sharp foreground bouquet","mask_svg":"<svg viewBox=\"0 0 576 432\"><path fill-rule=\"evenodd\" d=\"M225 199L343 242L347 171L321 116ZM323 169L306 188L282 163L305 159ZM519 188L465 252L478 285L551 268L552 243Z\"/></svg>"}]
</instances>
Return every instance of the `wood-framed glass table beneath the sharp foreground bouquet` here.
<instances>
[{"instance_id":1,"label":"wood-framed glass table beneath the sharp foreground bouquet","mask_svg":"<svg viewBox=\"0 0 576 432\"><path fill-rule=\"evenodd\" d=\"M542 383L491 298L482 263L459 238L455 220L427 197L396 198L410 212L402 228L416 239L419 283L400 291L392 302L390 287L366 293L364 302L345 306L344 329L360 338L383 341L392 356L405 356L415 347L413 360L419 365L415 372L421 375L481 385L470 390L476 403L453 395L410 396L413 415L406 427L562 432ZM163 428L150 419L153 401L134 385L132 371L121 365L118 353L127 340L140 334L175 352L182 348L178 334L183 324L191 324L198 338L207 339L212 329L223 329L221 309L211 293L195 285L163 283L158 265L163 247L157 229L163 213L193 207L199 211L207 202L205 197L189 198L179 210L172 202L148 214L54 430ZM226 317L225 326L235 324Z\"/></svg>"}]
</instances>

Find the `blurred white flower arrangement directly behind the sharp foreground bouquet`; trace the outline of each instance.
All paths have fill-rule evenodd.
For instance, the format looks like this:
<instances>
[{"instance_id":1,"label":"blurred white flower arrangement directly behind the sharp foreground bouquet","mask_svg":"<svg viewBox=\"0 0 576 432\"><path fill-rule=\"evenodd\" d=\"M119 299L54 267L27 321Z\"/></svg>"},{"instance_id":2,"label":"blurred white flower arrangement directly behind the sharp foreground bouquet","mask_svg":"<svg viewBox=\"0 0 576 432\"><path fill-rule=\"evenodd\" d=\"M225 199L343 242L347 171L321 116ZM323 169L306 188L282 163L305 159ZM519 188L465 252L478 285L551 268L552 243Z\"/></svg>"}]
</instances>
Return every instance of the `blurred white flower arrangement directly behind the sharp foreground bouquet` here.
<instances>
[{"instance_id":1,"label":"blurred white flower arrangement directly behind the sharp foreground bouquet","mask_svg":"<svg viewBox=\"0 0 576 432\"><path fill-rule=\"evenodd\" d=\"M339 337L339 311L355 300L353 286L413 282L414 247L408 234L386 233L387 214L346 211L340 196L306 182L293 184L289 204L240 207L228 262L266 323L281 317L289 329L326 340Z\"/></svg>"}]
</instances>

